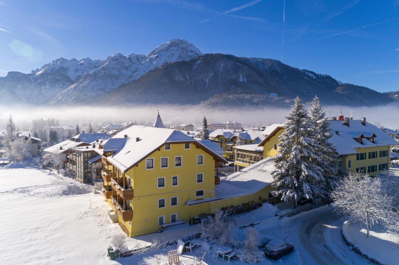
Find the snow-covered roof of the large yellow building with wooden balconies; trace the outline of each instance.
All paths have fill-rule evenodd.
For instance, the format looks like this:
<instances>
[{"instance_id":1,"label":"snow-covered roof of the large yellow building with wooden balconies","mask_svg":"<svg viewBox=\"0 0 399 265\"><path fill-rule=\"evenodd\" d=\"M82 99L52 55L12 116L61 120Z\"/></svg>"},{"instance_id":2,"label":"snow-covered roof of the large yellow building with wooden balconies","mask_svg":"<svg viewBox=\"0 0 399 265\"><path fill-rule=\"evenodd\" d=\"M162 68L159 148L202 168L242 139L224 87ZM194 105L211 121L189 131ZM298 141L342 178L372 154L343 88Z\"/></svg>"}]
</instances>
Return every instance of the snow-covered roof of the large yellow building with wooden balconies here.
<instances>
[{"instance_id":1,"label":"snow-covered roof of the large yellow building with wooden balconies","mask_svg":"<svg viewBox=\"0 0 399 265\"><path fill-rule=\"evenodd\" d=\"M125 134L127 135L126 138L124 137ZM136 138L139 138L139 140L136 141ZM112 156L107 157L107 160L120 170L126 171L157 150L164 143L173 142L197 141L178 130L134 125L104 142L103 148L104 152L107 152L109 149L113 149L112 152L115 152L116 147L119 146L120 149ZM201 146L209 150L215 157L220 158L221 161L227 162L219 154L214 153L203 144Z\"/></svg>"}]
</instances>

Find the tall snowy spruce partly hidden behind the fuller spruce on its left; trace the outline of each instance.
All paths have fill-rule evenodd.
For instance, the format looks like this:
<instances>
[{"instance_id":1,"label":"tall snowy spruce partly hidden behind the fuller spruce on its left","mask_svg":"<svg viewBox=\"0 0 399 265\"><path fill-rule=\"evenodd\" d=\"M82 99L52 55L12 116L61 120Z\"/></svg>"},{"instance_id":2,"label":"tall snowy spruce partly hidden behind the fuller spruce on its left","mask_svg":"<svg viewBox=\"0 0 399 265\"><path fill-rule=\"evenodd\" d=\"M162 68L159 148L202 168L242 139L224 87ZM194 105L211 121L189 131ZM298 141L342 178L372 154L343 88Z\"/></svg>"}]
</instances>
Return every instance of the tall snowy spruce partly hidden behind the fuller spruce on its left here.
<instances>
[{"instance_id":1,"label":"tall snowy spruce partly hidden behind the fuller spruce on its left","mask_svg":"<svg viewBox=\"0 0 399 265\"><path fill-rule=\"evenodd\" d=\"M330 122L326 118L326 112L317 96L314 97L313 101L310 103L310 122L314 133L316 134L316 142L318 146L315 146L315 152L319 154L318 160L314 160L321 169L326 183L322 183L321 189L325 189L325 194L328 195L336 185L337 181L340 179L336 176L334 166L338 162L338 155L335 151L334 145L328 140L332 137L332 131L329 127Z\"/></svg>"}]
</instances>

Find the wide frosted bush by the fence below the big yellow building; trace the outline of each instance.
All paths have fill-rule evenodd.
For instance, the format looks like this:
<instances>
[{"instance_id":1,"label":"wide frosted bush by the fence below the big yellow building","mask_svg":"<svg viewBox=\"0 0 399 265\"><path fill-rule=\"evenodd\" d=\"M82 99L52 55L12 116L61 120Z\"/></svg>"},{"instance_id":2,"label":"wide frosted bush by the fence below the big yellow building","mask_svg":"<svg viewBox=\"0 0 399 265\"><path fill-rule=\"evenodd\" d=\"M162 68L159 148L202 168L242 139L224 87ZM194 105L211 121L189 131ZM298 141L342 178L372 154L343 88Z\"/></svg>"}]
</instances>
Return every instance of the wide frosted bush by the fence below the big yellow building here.
<instances>
[{"instance_id":1,"label":"wide frosted bush by the fence below the big yellow building","mask_svg":"<svg viewBox=\"0 0 399 265\"><path fill-rule=\"evenodd\" d=\"M222 210L215 210L215 218L202 225L201 238L206 239L211 244L220 244L224 246L235 247L239 243L232 230L233 224L225 222L225 216Z\"/></svg>"}]
</instances>

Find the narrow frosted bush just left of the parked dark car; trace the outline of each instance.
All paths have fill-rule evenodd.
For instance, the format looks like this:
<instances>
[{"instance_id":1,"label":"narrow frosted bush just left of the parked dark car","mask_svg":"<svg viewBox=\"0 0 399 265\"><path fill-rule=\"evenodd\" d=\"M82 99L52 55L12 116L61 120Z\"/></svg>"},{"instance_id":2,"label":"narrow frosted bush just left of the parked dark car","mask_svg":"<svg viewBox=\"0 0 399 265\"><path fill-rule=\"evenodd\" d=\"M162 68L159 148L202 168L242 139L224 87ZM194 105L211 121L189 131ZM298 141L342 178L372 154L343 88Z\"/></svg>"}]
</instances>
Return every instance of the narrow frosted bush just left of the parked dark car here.
<instances>
[{"instance_id":1,"label":"narrow frosted bush just left of the parked dark car","mask_svg":"<svg viewBox=\"0 0 399 265\"><path fill-rule=\"evenodd\" d=\"M265 255L263 251L258 248L258 235L259 233L255 228L251 227L247 229L244 247L238 251L238 257L241 261L248 263L263 261Z\"/></svg>"}]
</instances>

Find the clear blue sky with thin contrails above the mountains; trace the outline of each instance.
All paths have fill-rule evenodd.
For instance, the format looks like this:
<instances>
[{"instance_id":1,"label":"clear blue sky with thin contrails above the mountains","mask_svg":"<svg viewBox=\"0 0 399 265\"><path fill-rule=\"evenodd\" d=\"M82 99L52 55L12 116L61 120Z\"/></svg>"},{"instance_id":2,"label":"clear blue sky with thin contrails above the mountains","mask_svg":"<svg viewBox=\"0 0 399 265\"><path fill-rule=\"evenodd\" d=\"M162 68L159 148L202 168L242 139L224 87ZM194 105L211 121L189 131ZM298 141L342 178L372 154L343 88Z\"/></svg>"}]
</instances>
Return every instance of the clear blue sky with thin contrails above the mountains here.
<instances>
[{"instance_id":1,"label":"clear blue sky with thin contrails above the mountains","mask_svg":"<svg viewBox=\"0 0 399 265\"><path fill-rule=\"evenodd\" d=\"M286 0L285 10L284 0L0 0L0 76L59 57L147 54L184 38L203 53L273 58L397 91L398 32L399 0Z\"/></svg>"}]
</instances>

